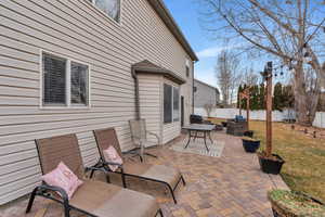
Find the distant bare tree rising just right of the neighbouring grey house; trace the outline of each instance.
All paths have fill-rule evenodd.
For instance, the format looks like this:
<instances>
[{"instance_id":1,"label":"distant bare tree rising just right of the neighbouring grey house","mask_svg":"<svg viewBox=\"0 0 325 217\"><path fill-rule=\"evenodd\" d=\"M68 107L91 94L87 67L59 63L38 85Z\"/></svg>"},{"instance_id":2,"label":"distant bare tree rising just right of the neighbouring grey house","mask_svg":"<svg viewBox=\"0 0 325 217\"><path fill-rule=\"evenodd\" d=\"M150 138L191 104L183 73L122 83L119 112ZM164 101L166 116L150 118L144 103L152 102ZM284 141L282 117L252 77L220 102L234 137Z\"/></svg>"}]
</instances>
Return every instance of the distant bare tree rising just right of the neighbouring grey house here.
<instances>
[{"instance_id":1,"label":"distant bare tree rising just right of the neighbouring grey house","mask_svg":"<svg viewBox=\"0 0 325 217\"><path fill-rule=\"evenodd\" d=\"M216 76L224 105L232 104L239 86L239 60L234 52L223 50L217 58Z\"/></svg>"}]
</instances>

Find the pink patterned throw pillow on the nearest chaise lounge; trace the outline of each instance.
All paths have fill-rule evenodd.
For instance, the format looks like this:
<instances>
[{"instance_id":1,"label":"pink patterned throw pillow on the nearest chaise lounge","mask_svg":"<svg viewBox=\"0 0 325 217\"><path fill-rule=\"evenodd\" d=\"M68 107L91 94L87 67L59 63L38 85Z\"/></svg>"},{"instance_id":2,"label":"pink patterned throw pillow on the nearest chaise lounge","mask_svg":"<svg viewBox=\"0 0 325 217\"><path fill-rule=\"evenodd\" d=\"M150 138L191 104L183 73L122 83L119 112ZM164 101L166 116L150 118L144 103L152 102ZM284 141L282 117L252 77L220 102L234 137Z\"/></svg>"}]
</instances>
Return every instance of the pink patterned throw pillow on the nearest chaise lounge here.
<instances>
[{"instance_id":1,"label":"pink patterned throw pillow on the nearest chaise lounge","mask_svg":"<svg viewBox=\"0 0 325 217\"><path fill-rule=\"evenodd\" d=\"M69 200L78 187L83 183L63 162L55 169L42 176L42 180L49 186L64 189Z\"/></svg>"}]
</instances>

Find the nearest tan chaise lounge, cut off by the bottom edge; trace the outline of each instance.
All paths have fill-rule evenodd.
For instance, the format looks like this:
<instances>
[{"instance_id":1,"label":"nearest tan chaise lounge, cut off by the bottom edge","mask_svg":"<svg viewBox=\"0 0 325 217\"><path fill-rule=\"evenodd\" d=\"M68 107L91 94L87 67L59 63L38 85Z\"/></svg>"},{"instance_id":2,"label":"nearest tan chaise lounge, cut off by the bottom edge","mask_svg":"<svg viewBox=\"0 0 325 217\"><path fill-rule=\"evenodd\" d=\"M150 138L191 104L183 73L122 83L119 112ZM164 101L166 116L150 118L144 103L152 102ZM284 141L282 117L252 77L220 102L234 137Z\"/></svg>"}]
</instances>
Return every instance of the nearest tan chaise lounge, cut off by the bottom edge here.
<instances>
[{"instance_id":1,"label":"nearest tan chaise lounge, cut off by the bottom edge","mask_svg":"<svg viewBox=\"0 0 325 217\"><path fill-rule=\"evenodd\" d=\"M69 217L72 209L92 217L154 217L158 214L162 216L156 200L151 195L102 181L83 179L84 169L75 135L36 140L36 144L42 174L53 170L63 162L83 180L83 184L68 200L63 189L43 183L31 192L26 213L30 212L35 196L38 195L62 204L65 217ZM99 170L93 167L87 169Z\"/></svg>"}]
</instances>

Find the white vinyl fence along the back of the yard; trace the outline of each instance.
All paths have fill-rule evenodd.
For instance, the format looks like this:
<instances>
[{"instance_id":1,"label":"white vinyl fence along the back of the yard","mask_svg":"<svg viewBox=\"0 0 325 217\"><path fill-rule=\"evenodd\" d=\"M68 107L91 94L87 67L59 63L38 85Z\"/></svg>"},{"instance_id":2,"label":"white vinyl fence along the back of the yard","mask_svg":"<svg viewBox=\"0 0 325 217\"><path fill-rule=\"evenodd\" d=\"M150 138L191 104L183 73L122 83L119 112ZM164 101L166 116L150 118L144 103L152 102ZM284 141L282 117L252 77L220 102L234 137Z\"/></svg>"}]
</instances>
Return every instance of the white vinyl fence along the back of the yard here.
<instances>
[{"instance_id":1,"label":"white vinyl fence along the back of the yard","mask_svg":"<svg viewBox=\"0 0 325 217\"><path fill-rule=\"evenodd\" d=\"M204 107L195 107L194 113L196 115L208 116L207 112ZM236 115L239 114L238 108L214 108L210 116L211 117L219 117L219 118L234 118ZM256 120L265 120L265 111L251 111L249 113L250 119ZM243 116L246 117L246 111L243 110ZM295 118L295 112L291 110L286 110L284 112L274 111L272 114L273 122L283 122L284 119L291 119ZM316 114L315 120L313 123L314 127L325 128L325 113L318 112Z\"/></svg>"}]
</instances>

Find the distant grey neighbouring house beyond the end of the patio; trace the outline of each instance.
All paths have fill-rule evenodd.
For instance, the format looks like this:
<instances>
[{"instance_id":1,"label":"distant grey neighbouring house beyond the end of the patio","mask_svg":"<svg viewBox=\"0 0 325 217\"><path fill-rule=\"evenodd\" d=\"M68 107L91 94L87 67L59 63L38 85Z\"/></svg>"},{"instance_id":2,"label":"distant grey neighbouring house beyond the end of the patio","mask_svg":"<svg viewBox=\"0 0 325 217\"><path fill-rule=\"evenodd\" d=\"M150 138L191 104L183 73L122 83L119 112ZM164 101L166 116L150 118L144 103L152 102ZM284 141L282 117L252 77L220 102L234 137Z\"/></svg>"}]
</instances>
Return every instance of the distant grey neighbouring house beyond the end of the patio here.
<instances>
[{"instance_id":1,"label":"distant grey neighbouring house beyond the end of the patio","mask_svg":"<svg viewBox=\"0 0 325 217\"><path fill-rule=\"evenodd\" d=\"M220 102L218 88L194 79L194 107L204 107L206 104L217 105Z\"/></svg>"}]
</instances>

